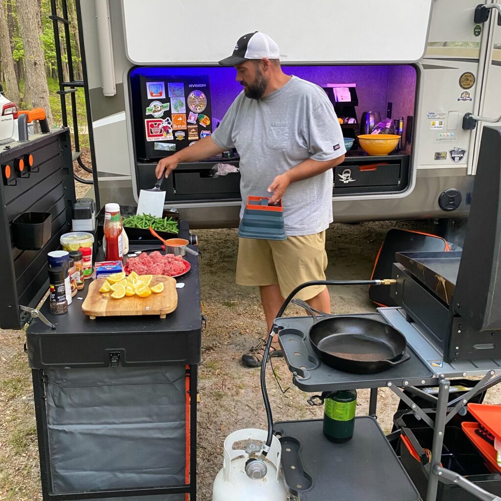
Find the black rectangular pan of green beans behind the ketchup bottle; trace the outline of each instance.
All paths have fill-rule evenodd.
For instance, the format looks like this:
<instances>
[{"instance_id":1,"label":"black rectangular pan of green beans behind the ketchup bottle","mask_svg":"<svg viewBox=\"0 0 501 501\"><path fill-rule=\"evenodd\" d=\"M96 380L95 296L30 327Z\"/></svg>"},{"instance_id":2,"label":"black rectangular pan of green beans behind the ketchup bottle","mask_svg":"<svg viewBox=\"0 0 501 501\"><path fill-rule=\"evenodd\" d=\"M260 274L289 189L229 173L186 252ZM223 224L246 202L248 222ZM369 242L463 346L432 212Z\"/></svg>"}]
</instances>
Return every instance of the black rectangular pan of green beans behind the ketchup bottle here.
<instances>
[{"instance_id":1,"label":"black rectangular pan of green beans behind the ketchup bottle","mask_svg":"<svg viewBox=\"0 0 501 501\"><path fill-rule=\"evenodd\" d=\"M153 218L149 214L136 215L137 207L130 205L120 206L120 215L129 240L154 240L149 227L164 239L175 238L179 230L179 214L164 210L161 218ZM103 238L104 208L97 216L98 239Z\"/></svg>"}]
</instances>

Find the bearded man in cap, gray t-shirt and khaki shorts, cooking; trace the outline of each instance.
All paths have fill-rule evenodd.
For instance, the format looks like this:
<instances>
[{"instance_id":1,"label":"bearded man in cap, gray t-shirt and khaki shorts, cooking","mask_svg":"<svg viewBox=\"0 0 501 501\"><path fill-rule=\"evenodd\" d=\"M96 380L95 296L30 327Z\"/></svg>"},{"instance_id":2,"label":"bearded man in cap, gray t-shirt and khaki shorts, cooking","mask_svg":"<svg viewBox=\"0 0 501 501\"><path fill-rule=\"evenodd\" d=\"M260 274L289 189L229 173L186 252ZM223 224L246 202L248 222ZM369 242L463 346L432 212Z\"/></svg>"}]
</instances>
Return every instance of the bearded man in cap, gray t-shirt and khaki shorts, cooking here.
<instances>
[{"instance_id":1,"label":"bearded man in cap, gray t-shirt and khaki shorts, cooking","mask_svg":"<svg viewBox=\"0 0 501 501\"><path fill-rule=\"evenodd\" d=\"M249 33L232 56L219 61L236 69L243 91L212 136L162 158L156 167L167 177L179 162L193 162L236 148L240 155L242 208L247 196L282 199L286 240L239 238L236 283L259 286L270 332L284 298L299 284L325 280L325 230L332 222L332 168L344 160L343 134L327 94L318 86L286 75L278 45L263 33ZM330 313L325 286L303 289L298 296ZM259 367L262 340L242 362ZM270 356L282 356L277 339Z\"/></svg>"}]
</instances>

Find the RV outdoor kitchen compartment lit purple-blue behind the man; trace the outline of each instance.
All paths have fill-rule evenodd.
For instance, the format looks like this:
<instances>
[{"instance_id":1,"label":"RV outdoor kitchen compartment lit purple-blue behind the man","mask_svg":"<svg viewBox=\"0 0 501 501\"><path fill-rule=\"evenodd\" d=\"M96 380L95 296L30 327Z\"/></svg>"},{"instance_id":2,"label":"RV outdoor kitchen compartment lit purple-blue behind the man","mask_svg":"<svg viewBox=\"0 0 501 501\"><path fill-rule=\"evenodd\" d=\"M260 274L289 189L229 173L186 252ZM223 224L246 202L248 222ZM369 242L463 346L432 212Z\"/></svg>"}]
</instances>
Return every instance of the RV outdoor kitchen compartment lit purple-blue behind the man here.
<instances>
[{"instance_id":1,"label":"RV outdoor kitchen compartment lit purple-blue behind the man","mask_svg":"<svg viewBox=\"0 0 501 501\"><path fill-rule=\"evenodd\" d=\"M324 87L331 100L334 97L329 94L329 92L332 94L330 82L340 80L344 82L346 79L358 82L358 87L349 85L350 92L356 96L356 99L349 103L333 103L340 117L346 115L357 121L355 124L341 124L343 135L346 137L353 137L356 133L359 127L358 119L364 109L379 110L383 117L388 100L396 102L397 96L401 94L402 85L409 87L408 92L405 94L405 99L398 100L401 109L395 109L395 106L393 113L399 116L415 113L418 73L411 65L370 67L284 65L284 71ZM177 103L181 99L181 97L170 95L173 88L169 90L169 84L172 86L176 83L179 84L177 86L179 94L182 87L185 109L185 113L176 115L183 115L186 123L181 124L180 127L185 128L167 130L164 135L160 130L161 126L164 120L167 120L165 123L170 127L169 120L172 120L174 113L173 102ZM150 94L148 94L150 92L148 84L156 84ZM187 102L188 96L193 91L202 92L205 96L202 98L202 105L206 102L206 108L198 113L198 116L207 117L203 123L199 118L194 118L196 113L193 113ZM240 92L241 86L235 82L233 68L214 66L132 68L129 72L129 104L132 115L133 161L137 193L140 189L149 189L153 186L154 169L158 159L189 147L193 142L214 132ZM160 108L154 111L153 106ZM191 122L188 120L190 115ZM204 126L207 120L210 124ZM148 129L150 125L156 127L155 130L150 131ZM176 132L179 133L178 137L176 137ZM183 133L184 137L182 137ZM234 151L230 154L233 156L218 155L208 161L179 164L163 182L162 188L166 191L166 203L240 200L240 174L238 172L221 177L213 177L209 173L217 163L230 163L238 167L238 155ZM345 162L335 168L333 196L402 192L409 186L410 174L409 151L393 152L384 157L369 156L363 150L357 149L355 145L347 153Z\"/></svg>"}]
</instances>

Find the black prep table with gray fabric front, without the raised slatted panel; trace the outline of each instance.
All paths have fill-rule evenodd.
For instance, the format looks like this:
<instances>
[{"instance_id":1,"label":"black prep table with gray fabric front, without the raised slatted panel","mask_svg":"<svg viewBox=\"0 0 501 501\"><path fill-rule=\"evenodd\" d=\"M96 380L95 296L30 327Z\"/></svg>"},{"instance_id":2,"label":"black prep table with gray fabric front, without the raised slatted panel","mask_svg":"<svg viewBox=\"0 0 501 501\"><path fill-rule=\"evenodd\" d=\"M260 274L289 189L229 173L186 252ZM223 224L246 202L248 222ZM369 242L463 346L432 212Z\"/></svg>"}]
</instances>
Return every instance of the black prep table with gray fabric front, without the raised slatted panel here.
<instances>
[{"instance_id":1,"label":"black prep table with gray fabric front, without the raised slatted panel","mask_svg":"<svg viewBox=\"0 0 501 501\"><path fill-rule=\"evenodd\" d=\"M130 252L148 246L131 242ZM163 320L91 320L81 311L89 280L67 314L41 307L56 330L29 326L44 501L196 499L202 317L198 259L184 259L191 270L176 279L185 285Z\"/></svg>"}]
</instances>

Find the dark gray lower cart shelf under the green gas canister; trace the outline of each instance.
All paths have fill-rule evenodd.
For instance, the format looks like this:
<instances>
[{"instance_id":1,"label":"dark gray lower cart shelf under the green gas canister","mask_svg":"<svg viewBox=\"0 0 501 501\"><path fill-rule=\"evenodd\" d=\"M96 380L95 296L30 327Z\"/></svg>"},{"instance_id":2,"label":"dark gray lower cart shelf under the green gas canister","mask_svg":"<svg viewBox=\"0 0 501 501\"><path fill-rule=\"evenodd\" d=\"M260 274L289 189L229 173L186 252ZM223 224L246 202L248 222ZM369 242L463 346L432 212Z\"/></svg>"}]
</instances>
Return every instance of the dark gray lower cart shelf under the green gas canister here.
<instances>
[{"instance_id":1,"label":"dark gray lower cart shelf under the green gas canister","mask_svg":"<svg viewBox=\"0 0 501 501\"><path fill-rule=\"evenodd\" d=\"M325 438L322 420L275 423L288 491L299 501L417 501L419 493L377 421L355 418L346 443Z\"/></svg>"}]
</instances>

